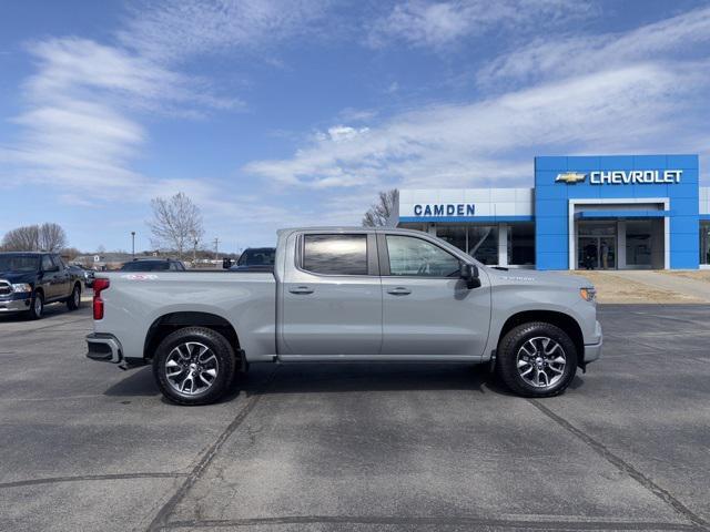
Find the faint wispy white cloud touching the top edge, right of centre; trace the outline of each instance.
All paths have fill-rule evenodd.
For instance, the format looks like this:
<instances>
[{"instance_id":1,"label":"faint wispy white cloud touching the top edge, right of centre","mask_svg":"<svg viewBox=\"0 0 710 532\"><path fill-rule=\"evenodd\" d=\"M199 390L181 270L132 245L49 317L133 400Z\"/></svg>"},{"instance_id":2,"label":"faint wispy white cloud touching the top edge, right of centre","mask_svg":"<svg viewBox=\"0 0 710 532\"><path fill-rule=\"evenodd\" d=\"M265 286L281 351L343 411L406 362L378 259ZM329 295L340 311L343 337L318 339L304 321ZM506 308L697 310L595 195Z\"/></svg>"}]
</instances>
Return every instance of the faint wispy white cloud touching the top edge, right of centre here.
<instances>
[{"instance_id":1,"label":"faint wispy white cloud touching the top edge, right of centre","mask_svg":"<svg viewBox=\"0 0 710 532\"><path fill-rule=\"evenodd\" d=\"M366 43L381 48L390 42L439 49L464 38L490 31L521 31L540 21L577 19L590 11L586 3L568 0L412 0L397 3L369 28Z\"/></svg>"}]
</instances>

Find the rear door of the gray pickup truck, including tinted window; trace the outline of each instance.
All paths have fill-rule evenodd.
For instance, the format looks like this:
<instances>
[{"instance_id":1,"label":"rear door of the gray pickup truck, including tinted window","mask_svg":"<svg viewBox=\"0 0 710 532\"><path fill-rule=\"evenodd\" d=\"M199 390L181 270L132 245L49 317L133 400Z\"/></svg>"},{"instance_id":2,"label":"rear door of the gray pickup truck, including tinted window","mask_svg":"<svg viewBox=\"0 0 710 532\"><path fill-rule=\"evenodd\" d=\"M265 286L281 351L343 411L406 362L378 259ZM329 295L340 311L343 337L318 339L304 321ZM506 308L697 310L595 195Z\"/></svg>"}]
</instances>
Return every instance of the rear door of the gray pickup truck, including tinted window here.
<instances>
[{"instance_id":1,"label":"rear door of the gray pickup truck, including tinted window","mask_svg":"<svg viewBox=\"0 0 710 532\"><path fill-rule=\"evenodd\" d=\"M282 352L377 355L382 288L375 234L303 233L294 245L282 290Z\"/></svg>"}]
</instances>

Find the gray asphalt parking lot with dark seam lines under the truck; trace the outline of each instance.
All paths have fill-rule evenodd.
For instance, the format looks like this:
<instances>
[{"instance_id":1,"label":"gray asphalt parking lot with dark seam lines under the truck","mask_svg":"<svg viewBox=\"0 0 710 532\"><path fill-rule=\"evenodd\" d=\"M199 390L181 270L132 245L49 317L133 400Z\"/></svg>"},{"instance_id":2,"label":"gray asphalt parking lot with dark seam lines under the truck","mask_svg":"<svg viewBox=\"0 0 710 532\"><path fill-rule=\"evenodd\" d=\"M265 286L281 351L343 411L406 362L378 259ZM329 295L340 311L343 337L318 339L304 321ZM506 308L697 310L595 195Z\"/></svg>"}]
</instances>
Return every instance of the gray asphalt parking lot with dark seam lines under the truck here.
<instances>
[{"instance_id":1,"label":"gray asphalt parking lot with dark seam lines under the truck","mask_svg":"<svg viewBox=\"0 0 710 532\"><path fill-rule=\"evenodd\" d=\"M710 307L605 306L566 395L484 368L254 366L223 402L84 358L90 309L0 317L0 530L703 530Z\"/></svg>"}]
</instances>

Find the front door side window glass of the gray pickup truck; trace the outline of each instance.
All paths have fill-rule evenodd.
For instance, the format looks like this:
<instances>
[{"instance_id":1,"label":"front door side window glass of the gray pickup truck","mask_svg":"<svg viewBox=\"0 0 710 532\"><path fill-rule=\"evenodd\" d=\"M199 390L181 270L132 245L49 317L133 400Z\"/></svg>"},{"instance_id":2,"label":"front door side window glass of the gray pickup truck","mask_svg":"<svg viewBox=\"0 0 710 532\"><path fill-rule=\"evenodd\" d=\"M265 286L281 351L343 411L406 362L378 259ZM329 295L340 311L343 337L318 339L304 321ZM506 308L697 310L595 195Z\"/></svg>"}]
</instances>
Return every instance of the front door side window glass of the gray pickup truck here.
<instances>
[{"instance_id":1,"label":"front door side window glass of the gray pickup truck","mask_svg":"<svg viewBox=\"0 0 710 532\"><path fill-rule=\"evenodd\" d=\"M389 275L458 277L460 264L450 253L414 236L387 235Z\"/></svg>"}]
</instances>

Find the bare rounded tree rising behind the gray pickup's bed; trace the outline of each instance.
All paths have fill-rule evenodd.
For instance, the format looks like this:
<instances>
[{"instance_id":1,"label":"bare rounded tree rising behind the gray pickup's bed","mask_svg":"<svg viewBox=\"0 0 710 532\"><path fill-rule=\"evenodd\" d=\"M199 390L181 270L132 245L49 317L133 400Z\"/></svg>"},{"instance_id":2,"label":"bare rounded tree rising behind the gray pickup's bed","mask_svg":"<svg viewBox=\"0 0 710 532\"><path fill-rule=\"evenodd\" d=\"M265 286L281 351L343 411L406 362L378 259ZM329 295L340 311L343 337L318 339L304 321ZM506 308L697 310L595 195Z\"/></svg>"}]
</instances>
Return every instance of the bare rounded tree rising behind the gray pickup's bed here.
<instances>
[{"instance_id":1,"label":"bare rounded tree rising behind the gray pickup's bed","mask_svg":"<svg viewBox=\"0 0 710 532\"><path fill-rule=\"evenodd\" d=\"M153 219L148 223L154 247L178 252L182 259L185 248L196 249L204 236L200 208L182 192L172 197L151 201Z\"/></svg>"}]
</instances>

